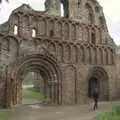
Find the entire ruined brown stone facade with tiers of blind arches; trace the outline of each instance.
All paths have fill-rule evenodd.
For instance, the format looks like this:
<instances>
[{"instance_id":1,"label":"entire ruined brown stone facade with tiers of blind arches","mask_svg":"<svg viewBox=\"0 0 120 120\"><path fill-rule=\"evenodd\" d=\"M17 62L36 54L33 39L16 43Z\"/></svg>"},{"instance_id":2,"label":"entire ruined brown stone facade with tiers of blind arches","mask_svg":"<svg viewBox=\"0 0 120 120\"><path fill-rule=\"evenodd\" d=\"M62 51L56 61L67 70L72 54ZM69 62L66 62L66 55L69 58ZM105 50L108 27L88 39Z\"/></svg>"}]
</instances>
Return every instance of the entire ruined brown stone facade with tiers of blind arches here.
<instances>
[{"instance_id":1,"label":"entire ruined brown stone facade with tiers of blind arches","mask_svg":"<svg viewBox=\"0 0 120 120\"><path fill-rule=\"evenodd\" d=\"M51 104L86 103L94 87L100 100L116 99L115 45L99 3L46 0L45 7L23 4L0 26L0 104L21 104L22 80L31 71L43 77Z\"/></svg>"}]
</instances>

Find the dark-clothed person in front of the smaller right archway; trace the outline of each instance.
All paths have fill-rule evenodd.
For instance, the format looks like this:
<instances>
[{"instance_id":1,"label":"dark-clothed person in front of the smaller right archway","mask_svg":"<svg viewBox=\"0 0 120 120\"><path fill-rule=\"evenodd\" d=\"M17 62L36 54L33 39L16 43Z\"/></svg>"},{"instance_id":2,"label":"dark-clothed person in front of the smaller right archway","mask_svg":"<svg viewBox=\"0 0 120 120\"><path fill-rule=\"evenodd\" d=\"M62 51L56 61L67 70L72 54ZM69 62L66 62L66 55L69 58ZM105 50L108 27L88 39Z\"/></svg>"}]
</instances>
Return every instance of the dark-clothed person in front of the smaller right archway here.
<instances>
[{"instance_id":1,"label":"dark-clothed person in front of the smaller right archway","mask_svg":"<svg viewBox=\"0 0 120 120\"><path fill-rule=\"evenodd\" d=\"M94 99L94 110L98 108L98 98L99 98L99 93L98 93L98 88L95 87L93 90L93 99Z\"/></svg>"}]
</instances>

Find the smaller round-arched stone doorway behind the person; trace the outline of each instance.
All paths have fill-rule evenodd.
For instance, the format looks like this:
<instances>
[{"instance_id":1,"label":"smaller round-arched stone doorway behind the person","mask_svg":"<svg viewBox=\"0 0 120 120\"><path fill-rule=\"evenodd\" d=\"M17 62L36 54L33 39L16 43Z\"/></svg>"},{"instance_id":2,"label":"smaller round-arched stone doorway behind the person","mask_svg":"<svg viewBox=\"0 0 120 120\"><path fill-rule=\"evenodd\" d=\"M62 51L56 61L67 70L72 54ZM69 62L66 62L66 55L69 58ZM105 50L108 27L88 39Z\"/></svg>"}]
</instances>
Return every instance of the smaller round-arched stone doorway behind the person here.
<instances>
[{"instance_id":1,"label":"smaller round-arched stone doorway behind the person","mask_svg":"<svg viewBox=\"0 0 120 120\"><path fill-rule=\"evenodd\" d=\"M92 98L94 88L98 88L100 100L109 99L109 84L107 72L101 67L94 67L88 77L88 97Z\"/></svg>"}]
</instances>

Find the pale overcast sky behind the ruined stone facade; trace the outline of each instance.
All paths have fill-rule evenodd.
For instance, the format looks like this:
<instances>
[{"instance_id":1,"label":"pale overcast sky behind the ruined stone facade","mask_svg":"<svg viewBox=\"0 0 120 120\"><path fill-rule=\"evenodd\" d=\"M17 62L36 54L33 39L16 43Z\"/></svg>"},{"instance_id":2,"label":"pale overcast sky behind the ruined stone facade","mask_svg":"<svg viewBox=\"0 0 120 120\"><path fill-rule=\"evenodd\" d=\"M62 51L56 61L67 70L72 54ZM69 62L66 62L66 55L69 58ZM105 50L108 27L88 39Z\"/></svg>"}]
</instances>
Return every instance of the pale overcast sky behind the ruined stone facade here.
<instances>
[{"instance_id":1,"label":"pale overcast sky behind the ruined stone facade","mask_svg":"<svg viewBox=\"0 0 120 120\"><path fill-rule=\"evenodd\" d=\"M23 3L30 4L35 10L44 10L45 0L9 0L0 5L0 24L7 21L13 9ZM103 7L110 35L120 45L120 0L98 0Z\"/></svg>"}]
</instances>

